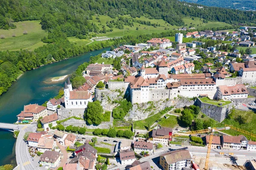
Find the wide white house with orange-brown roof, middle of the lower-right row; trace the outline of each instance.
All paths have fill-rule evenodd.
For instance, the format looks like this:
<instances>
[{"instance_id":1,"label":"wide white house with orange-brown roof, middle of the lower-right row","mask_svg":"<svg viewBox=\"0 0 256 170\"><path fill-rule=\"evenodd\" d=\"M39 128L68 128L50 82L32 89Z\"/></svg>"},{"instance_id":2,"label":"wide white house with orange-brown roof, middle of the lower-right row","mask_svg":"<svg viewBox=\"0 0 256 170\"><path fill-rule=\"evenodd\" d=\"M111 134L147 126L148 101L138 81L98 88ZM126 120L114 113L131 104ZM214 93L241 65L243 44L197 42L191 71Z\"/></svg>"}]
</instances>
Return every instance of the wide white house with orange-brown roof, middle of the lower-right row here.
<instances>
[{"instance_id":1,"label":"wide white house with orange-brown roof, middle of the lower-right row","mask_svg":"<svg viewBox=\"0 0 256 170\"><path fill-rule=\"evenodd\" d=\"M239 136L221 136L221 146L223 149L241 149L246 148L248 144L248 140L244 135Z\"/></svg>"}]
</instances>

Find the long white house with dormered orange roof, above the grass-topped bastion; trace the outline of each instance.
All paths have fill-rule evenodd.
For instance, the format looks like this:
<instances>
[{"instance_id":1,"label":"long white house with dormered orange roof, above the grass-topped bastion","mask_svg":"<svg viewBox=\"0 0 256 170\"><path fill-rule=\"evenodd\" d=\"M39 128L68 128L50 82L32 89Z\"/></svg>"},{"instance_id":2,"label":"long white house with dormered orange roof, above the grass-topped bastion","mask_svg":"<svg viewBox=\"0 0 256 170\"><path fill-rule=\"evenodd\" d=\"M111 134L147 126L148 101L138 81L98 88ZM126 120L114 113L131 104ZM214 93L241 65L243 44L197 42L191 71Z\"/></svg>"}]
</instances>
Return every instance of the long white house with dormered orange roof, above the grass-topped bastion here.
<instances>
[{"instance_id":1,"label":"long white house with dormered orange roof, above the grass-topped bastion","mask_svg":"<svg viewBox=\"0 0 256 170\"><path fill-rule=\"evenodd\" d=\"M218 86L218 99L230 100L232 98L247 98L247 96L248 91L244 84Z\"/></svg>"}]
</instances>

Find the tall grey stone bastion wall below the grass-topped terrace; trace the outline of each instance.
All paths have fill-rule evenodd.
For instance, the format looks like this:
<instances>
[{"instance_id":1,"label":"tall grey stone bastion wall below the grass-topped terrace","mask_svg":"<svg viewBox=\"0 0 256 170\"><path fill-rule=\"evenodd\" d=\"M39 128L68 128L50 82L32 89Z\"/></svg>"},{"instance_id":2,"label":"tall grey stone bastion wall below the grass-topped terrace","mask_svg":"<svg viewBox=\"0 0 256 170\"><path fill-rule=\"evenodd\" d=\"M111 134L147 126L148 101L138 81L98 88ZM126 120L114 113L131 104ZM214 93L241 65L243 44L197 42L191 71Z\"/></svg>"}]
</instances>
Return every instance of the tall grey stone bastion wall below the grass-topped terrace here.
<instances>
[{"instance_id":1,"label":"tall grey stone bastion wall below the grass-topped terrace","mask_svg":"<svg viewBox=\"0 0 256 170\"><path fill-rule=\"evenodd\" d=\"M220 107L214 104L204 103L199 98L197 98L197 100L195 101L195 105L199 106L201 112L203 112L205 115L213 118L215 121L221 122L227 117L230 109L232 109L232 106L234 106L235 103L232 102L230 104Z\"/></svg>"}]
</instances>

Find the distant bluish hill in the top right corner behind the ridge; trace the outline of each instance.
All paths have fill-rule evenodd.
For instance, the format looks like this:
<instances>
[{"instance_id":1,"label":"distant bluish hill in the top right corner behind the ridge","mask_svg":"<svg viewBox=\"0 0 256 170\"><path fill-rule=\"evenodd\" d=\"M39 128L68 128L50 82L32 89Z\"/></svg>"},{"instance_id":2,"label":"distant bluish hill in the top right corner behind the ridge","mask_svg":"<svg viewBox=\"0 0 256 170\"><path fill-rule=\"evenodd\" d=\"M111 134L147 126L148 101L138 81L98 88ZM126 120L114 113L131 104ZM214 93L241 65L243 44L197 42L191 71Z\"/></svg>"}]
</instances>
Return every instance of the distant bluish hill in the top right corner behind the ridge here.
<instances>
[{"instance_id":1,"label":"distant bluish hill in the top right corner behind the ridge","mask_svg":"<svg viewBox=\"0 0 256 170\"><path fill-rule=\"evenodd\" d=\"M181 0L205 6L224 7L239 10L256 10L256 0Z\"/></svg>"}]
</instances>

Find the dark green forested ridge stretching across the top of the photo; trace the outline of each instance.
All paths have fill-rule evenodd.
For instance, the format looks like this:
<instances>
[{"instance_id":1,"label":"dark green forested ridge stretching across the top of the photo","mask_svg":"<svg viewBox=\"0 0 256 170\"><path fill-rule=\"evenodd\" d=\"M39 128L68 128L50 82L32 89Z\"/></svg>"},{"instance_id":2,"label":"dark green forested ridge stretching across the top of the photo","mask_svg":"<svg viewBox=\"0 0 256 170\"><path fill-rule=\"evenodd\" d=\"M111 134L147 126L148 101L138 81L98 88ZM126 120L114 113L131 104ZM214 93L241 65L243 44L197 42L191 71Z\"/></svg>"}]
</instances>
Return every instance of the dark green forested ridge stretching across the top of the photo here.
<instances>
[{"instance_id":1,"label":"dark green forested ridge stretching across the top of the photo","mask_svg":"<svg viewBox=\"0 0 256 170\"><path fill-rule=\"evenodd\" d=\"M130 14L131 17L163 19L171 25L182 26L182 16L200 17L225 23L256 23L256 12L236 11L216 7L198 8L178 0L1 0L0 28L8 29L12 21L42 20L42 28L61 26L63 32L85 34L96 26L88 24L93 14L115 17ZM69 36L69 35L68 35Z\"/></svg>"}]
</instances>

